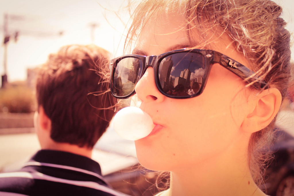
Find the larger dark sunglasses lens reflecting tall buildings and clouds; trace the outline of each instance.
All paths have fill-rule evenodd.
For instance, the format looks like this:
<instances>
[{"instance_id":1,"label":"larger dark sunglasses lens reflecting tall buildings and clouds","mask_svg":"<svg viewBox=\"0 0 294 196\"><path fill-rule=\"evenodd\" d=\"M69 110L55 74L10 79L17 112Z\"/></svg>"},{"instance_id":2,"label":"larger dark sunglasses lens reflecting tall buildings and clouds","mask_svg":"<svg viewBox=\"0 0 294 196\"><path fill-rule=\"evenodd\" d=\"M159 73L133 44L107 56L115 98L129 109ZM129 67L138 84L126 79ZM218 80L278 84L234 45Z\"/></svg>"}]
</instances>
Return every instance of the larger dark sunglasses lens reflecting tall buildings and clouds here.
<instances>
[{"instance_id":1,"label":"larger dark sunglasses lens reflecting tall buildings and clouds","mask_svg":"<svg viewBox=\"0 0 294 196\"><path fill-rule=\"evenodd\" d=\"M189 97L198 93L206 73L202 54L180 52L163 58L158 66L158 80L164 93Z\"/></svg>"}]
</instances>

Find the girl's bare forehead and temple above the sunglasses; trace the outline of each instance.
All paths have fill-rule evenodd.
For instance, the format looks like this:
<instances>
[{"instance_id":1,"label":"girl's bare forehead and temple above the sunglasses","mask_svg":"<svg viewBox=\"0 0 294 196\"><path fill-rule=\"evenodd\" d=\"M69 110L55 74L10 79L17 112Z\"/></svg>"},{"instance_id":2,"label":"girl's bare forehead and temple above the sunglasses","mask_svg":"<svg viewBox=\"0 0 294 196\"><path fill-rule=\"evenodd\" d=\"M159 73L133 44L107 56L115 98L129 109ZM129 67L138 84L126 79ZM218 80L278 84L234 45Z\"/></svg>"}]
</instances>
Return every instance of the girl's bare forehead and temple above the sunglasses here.
<instances>
[{"instance_id":1,"label":"girl's bare forehead and temple above the sunglasses","mask_svg":"<svg viewBox=\"0 0 294 196\"><path fill-rule=\"evenodd\" d=\"M150 17L136 42L135 49L150 55L159 55L181 48L210 49L223 53L247 66L248 61L236 50L232 39L212 30L188 29L181 13L157 13ZM196 29L197 28L197 29Z\"/></svg>"}]
</instances>

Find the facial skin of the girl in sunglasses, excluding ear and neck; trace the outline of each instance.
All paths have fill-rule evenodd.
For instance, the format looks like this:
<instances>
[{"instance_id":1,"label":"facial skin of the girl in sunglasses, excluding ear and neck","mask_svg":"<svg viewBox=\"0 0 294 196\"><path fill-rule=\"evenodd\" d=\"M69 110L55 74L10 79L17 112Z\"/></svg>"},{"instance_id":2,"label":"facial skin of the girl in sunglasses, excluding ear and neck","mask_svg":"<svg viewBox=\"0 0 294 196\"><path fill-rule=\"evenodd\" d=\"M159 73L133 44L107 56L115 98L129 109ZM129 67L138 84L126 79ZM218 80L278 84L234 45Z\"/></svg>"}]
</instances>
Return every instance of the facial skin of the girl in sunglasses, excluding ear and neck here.
<instances>
[{"instance_id":1,"label":"facial skin of the girl in sunglasses, excluding ear and neck","mask_svg":"<svg viewBox=\"0 0 294 196\"><path fill-rule=\"evenodd\" d=\"M182 24L183 16L175 13L151 19L133 53L159 55L203 43L196 33L190 35L193 40L189 41ZM219 51L248 66L230 45L228 37L217 40L205 49ZM139 162L151 170L173 171L194 167L234 147L242 138L240 126L245 118L248 94L244 86L240 77L214 64L200 96L173 99L158 91L153 68L147 68L136 85L131 105L147 112L156 127L150 135L135 141Z\"/></svg>"}]
</instances>

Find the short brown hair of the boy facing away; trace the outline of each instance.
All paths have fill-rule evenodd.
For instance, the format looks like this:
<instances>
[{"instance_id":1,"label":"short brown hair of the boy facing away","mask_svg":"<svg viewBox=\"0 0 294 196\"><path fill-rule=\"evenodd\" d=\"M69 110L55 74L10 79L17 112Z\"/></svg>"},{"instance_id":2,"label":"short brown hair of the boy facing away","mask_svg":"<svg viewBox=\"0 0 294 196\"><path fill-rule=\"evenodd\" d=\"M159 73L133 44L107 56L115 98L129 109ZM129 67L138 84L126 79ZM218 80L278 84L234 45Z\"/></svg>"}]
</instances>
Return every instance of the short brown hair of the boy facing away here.
<instances>
[{"instance_id":1,"label":"short brown hair of the boy facing away","mask_svg":"<svg viewBox=\"0 0 294 196\"><path fill-rule=\"evenodd\" d=\"M63 46L49 55L36 80L38 106L51 120L51 139L93 148L105 132L116 100L103 80L108 51L94 45Z\"/></svg>"}]
</instances>

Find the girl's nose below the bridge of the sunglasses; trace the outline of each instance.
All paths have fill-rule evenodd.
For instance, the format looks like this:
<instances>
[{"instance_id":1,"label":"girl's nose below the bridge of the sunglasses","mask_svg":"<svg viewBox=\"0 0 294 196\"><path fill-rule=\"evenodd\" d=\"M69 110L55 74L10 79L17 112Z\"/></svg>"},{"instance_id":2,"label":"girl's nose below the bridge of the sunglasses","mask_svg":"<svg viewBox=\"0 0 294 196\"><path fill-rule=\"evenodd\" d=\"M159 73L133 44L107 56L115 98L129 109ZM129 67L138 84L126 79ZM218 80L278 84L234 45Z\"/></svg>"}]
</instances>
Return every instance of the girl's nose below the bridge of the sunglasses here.
<instances>
[{"instance_id":1,"label":"girl's nose below the bridge of the sunglasses","mask_svg":"<svg viewBox=\"0 0 294 196\"><path fill-rule=\"evenodd\" d=\"M160 102L164 99L164 95L158 91L155 83L153 67L148 67L138 81L135 87L136 94L142 102L156 101Z\"/></svg>"}]
</instances>

